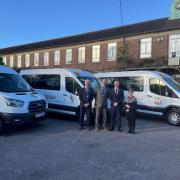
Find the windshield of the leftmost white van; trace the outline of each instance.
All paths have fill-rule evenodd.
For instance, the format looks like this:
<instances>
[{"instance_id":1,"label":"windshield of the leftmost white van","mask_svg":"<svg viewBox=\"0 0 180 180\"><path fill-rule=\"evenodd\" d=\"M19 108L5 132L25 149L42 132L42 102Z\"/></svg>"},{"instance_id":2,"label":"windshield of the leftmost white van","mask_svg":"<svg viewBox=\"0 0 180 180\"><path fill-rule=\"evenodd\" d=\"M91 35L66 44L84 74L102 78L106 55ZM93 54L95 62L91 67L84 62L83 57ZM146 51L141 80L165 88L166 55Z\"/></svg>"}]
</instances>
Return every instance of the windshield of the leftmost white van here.
<instances>
[{"instance_id":1,"label":"windshield of the leftmost white van","mask_svg":"<svg viewBox=\"0 0 180 180\"><path fill-rule=\"evenodd\" d=\"M20 75L0 73L0 91L8 93L29 92L31 87Z\"/></svg>"}]
</instances>

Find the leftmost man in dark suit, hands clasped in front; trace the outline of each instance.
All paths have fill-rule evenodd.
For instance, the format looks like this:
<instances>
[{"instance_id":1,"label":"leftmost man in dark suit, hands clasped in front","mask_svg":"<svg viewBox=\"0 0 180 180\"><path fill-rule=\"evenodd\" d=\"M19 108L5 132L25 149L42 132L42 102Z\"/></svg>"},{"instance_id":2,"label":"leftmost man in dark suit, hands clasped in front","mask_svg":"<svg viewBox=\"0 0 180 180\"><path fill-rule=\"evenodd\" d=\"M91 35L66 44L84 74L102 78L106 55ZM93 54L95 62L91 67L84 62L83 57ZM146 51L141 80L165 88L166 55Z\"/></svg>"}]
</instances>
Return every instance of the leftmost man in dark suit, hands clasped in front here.
<instances>
[{"instance_id":1,"label":"leftmost man in dark suit, hands clasped in front","mask_svg":"<svg viewBox=\"0 0 180 180\"><path fill-rule=\"evenodd\" d=\"M87 126L88 130L90 128L91 112L92 112L92 100L93 100L93 90L89 86L89 80L85 80L84 87L79 92L80 99L80 130L84 127L84 114L87 114Z\"/></svg>"}]
</instances>

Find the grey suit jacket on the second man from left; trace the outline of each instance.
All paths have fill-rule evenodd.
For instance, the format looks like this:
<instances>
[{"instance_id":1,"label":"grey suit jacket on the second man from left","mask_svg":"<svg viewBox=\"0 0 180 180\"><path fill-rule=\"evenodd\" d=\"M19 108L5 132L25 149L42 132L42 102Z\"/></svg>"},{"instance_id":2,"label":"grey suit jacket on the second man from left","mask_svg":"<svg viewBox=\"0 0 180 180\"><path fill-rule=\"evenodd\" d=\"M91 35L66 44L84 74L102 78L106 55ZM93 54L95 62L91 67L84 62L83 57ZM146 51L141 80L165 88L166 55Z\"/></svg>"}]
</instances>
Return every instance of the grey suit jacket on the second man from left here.
<instances>
[{"instance_id":1,"label":"grey suit jacket on the second man from left","mask_svg":"<svg viewBox=\"0 0 180 180\"><path fill-rule=\"evenodd\" d=\"M95 93L96 107L107 108L108 98L109 98L109 88L105 86L103 89L101 86L98 86Z\"/></svg>"}]
</instances>

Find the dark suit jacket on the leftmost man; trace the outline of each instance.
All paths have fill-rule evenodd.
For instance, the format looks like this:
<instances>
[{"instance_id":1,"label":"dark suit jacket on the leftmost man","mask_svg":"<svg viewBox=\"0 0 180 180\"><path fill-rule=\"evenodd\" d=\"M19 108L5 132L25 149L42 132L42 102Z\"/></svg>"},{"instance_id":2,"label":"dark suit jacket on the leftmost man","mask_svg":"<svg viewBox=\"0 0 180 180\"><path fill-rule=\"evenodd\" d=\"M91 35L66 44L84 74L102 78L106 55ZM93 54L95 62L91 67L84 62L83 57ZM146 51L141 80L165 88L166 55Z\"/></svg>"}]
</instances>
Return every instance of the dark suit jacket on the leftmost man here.
<instances>
[{"instance_id":1,"label":"dark suit jacket on the leftmost man","mask_svg":"<svg viewBox=\"0 0 180 180\"><path fill-rule=\"evenodd\" d=\"M83 87L79 92L80 105L89 103L92 105L93 100L93 90L89 87L88 91Z\"/></svg>"}]
</instances>

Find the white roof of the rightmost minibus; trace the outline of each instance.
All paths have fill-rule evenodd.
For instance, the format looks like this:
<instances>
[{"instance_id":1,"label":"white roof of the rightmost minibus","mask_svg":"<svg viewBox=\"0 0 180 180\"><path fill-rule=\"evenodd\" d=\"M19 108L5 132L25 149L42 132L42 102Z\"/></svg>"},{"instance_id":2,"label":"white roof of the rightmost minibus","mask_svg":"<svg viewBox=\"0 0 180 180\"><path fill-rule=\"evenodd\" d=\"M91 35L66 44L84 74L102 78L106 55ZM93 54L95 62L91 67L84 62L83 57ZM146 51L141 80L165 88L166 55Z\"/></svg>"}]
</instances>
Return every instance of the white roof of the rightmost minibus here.
<instances>
[{"instance_id":1,"label":"white roof of the rightmost minibus","mask_svg":"<svg viewBox=\"0 0 180 180\"><path fill-rule=\"evenodd\" d=\"M118 77L118 76L152 76L160 78L169 78L168 74L159 71L117 71L117 72L102 72L94 74L96 78L100 77Z\"/></svg>"}]
</instances>

